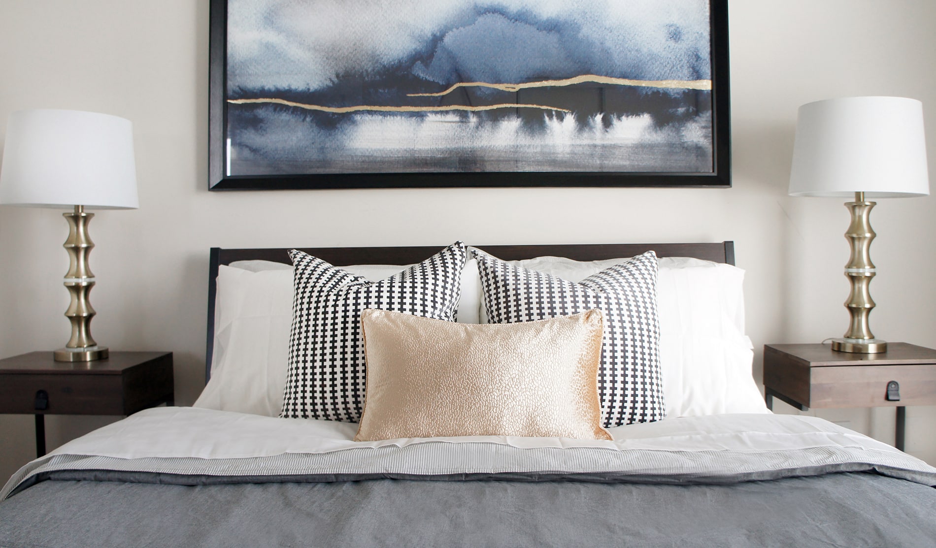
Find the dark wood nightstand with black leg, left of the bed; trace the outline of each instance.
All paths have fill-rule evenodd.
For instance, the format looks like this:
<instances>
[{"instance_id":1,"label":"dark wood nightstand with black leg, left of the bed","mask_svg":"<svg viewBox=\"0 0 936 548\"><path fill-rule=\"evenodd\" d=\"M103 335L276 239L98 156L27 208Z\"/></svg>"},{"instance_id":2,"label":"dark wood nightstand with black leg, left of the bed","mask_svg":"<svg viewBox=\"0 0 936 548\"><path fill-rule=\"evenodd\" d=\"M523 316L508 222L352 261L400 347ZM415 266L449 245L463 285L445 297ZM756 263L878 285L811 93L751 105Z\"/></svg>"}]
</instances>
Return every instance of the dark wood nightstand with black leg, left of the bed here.
<instances>
[{"instance_id":1,"label":"dark wood nightstand with black leg, left of the bed","mask_svg":"<svg viewBox=\"0 0 936 548\"><path fill-rule=\"evenodd\" d=\"M45 415L129 415L174 404L172 353L110 352L106 360L56 362L51 352L0 360L0 413L36 415L36 453L46 454Z\"/></svg>"}]
</instances>

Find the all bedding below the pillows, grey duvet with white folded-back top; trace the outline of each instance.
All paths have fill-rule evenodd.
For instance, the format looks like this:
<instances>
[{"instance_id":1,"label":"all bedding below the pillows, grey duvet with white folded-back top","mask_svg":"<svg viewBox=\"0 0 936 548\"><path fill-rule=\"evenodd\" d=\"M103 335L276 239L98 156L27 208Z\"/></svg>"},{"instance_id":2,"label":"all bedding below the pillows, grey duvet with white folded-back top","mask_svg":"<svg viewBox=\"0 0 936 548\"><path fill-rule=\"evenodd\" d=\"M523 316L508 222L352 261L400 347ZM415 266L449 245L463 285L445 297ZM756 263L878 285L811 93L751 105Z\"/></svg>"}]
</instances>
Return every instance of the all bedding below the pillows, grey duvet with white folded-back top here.
<instances>
[{"instance_id":1,"label":"all bedding below the pillows, grey duvet with white folded-back top","mask_svg":"<svg viewBox=\"0 0 936 548\"><path fill-rule=\"evenodd\" d=\"M230 411L141 411L23 467L2 494L0 546L936 539L936 469L815 417L681 417L609 428L613 440L356 442L355 432Z\"/></svg>"}]
</instances>

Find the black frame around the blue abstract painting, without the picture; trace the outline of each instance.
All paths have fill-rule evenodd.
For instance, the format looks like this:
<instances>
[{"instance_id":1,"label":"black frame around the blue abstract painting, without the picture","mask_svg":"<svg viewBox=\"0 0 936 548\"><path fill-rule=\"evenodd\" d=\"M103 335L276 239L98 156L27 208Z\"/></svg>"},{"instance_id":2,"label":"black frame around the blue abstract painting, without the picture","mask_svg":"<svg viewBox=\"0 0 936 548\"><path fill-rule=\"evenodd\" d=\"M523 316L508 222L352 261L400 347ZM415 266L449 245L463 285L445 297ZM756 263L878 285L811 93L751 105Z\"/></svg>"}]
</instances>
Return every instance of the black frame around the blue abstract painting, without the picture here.
<instances>
[{"instance_id":1,"label":"black frame around the blue abstract painting, without the picture","mask_svg":"<svg viewBox=\"0 0 936 548\"><path fill-rule=\"evenodd\" d=\"M227 0L211 0L209 190L452 187L731 187L727 0L709 0L712 105L711 172L481 171L226 175Z\"/></svg>"}]
</instances>

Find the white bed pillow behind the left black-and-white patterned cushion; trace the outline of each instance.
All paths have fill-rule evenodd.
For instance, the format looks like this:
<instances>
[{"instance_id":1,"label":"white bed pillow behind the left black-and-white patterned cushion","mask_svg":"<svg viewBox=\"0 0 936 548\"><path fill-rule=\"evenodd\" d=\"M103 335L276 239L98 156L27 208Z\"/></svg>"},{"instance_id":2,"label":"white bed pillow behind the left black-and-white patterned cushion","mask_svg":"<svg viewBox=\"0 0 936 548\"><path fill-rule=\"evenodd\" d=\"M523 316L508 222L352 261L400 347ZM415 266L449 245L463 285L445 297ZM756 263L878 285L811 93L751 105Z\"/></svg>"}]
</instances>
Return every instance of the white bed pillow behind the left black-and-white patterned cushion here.
<instances>
[{"instance_id":1,"label":"white bed pillow behind the left black-and-white patterned cushion","mask_svg":"<svg viewBox=\"0 0 936 548\"><path fill-rule=\"evenodd\" d=\"M405 266L342 267L370 281ZM218 267L214 299L212 377L194 407L279 416L292 324L293 268L274 261L236 261ZM481 281L477 261L461 275L458 321L477 324Z\"/></svg>"}]
</instances>

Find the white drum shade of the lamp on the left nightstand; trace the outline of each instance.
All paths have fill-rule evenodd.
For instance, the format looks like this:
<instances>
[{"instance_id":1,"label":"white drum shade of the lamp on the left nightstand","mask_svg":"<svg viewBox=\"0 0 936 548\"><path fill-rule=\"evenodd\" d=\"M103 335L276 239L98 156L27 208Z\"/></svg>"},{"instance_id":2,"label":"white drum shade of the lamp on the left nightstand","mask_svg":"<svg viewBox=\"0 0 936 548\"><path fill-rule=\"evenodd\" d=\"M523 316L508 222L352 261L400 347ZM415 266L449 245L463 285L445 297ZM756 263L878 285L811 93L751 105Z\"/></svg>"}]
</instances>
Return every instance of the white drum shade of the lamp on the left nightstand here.
<instances>
[{"instance_id":1,"label":"white drum shade of the lamp on the left nightstand","mask_svg":"<svg viewBox=\"0 0 936 548\"><path fill-rule=\"evenodd\" d=\"M139 208L130 121L80 110L11 113L0 204Z\"/></svg>"}]
</instances>

